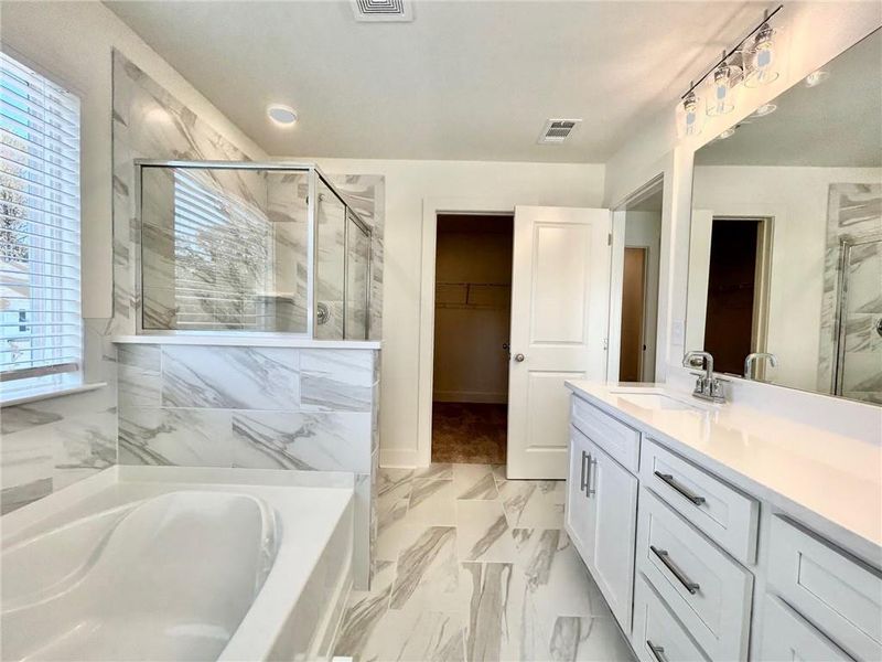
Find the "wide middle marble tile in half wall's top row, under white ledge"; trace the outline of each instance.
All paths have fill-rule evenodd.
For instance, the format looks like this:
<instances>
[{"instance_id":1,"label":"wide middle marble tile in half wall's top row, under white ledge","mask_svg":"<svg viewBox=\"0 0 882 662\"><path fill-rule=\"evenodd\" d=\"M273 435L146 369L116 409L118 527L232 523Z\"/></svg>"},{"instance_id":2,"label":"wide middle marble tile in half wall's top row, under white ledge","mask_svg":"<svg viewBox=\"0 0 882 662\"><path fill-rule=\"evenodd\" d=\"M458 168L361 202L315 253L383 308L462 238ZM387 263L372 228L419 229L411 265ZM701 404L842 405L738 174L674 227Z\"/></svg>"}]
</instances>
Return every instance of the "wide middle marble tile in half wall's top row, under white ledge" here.
<instances>
[{"instance_id":1,"label":"wide middle marble tile in half wall's top row, under white ledge","mask_svg":"<svg viewBox=\"0 0 882 662\"><path fill-rule=\"evenodd\" d=\"M286 348L162 348L162 405L297 409L298 351Z\"/></svg>"}]
</instances>

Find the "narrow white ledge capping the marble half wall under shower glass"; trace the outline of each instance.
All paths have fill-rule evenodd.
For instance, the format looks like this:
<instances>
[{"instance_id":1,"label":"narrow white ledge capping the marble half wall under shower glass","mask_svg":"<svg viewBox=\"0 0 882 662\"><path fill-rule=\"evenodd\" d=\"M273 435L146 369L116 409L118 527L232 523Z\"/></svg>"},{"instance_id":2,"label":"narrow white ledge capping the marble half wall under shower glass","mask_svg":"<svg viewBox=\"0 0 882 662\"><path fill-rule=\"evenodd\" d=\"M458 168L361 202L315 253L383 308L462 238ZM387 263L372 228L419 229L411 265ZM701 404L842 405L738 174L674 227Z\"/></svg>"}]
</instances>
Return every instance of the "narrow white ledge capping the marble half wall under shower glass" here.
<instances>
[{"instance_id":1,"label":"narrow white ledge capping the marble half wall under shower glass","mask_svg":"<svg viewBox=\"0 0 882 662\"><path fill-rule=\"evenodd\" d=\"M182 333L170 335L114 335L110 342L117 344L182 344L236 348L300 348L306 350L379 350L379 340L313 340L290 333L263 335L209 333Z\"/></svg>"}]
</instances>

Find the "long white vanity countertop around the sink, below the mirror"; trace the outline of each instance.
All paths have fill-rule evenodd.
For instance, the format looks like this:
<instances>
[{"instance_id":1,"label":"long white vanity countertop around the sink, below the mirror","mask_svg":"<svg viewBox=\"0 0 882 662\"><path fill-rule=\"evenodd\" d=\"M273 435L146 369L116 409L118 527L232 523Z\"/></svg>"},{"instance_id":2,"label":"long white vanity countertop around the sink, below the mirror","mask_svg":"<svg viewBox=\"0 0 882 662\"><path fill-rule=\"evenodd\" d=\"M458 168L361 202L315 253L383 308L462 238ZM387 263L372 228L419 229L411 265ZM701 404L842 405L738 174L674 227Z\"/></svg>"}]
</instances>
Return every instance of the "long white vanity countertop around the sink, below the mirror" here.
<instances>
[{"instance_id":1,"label":"long white vanity countertop around the sink, below the mirror","mask_svg":"<svg viewBox=\"0 0 882 662\"><path fill-rule=\"evenodd\" d=\"M853 554L882 566L882 447L662 384L573 381L580 397ZM664 393L690 409L644 407L625 393Z\"/></svg>"}]
</instances>

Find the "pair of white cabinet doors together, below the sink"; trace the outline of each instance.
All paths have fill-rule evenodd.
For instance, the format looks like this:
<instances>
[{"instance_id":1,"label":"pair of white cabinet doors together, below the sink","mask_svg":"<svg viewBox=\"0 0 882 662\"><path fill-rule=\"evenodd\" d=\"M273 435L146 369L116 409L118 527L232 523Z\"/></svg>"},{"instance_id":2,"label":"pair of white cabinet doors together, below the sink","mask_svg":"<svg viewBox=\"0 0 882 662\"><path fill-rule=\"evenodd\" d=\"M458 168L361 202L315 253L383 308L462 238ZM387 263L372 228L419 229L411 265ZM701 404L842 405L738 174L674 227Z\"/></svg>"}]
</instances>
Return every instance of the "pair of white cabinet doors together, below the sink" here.
<instances>
[{"instance_id":1,"label":"pair of white cabinet doors together, below the sink","mask_svg":"<svg viewBox=\"0 0 882 662\"><path fill-rule=\"evenodd\" d=\"M570 426L567 533L625 630L631 629L637 478Z\"/></svg>"}]
</instances>

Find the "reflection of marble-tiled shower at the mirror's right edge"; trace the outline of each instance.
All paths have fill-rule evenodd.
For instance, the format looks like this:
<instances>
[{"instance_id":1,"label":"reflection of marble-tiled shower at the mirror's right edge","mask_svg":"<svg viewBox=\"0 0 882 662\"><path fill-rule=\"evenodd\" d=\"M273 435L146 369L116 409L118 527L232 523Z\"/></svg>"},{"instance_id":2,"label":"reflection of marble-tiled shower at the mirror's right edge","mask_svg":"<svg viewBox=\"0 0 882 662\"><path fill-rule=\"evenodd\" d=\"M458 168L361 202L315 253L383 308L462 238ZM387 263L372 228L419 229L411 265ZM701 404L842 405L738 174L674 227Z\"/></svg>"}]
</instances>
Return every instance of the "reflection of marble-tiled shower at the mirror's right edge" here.
<instances>
[{"instance_id":1,"label":"reflection of marble-tiled shower at the mirror's right edge","mask_svg":"<svg viewBox=\"0 0 882 662\"><path fill-rule=\"evenodd\" d=\"M882 404L882 184L830 184L818 391Z\"/></svg>"}]
</instances>

